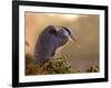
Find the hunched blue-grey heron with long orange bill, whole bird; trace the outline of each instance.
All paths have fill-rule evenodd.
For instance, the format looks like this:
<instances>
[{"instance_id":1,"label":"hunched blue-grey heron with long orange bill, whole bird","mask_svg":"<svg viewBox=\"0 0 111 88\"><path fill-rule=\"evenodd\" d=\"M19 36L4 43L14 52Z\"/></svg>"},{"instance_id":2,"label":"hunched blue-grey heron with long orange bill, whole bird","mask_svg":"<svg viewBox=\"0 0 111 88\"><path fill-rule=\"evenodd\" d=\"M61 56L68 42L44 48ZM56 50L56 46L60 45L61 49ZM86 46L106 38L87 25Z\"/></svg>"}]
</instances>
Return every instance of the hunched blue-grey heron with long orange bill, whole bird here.
<instances>
[{"instance_id":1,"label":"hunched blue-grey heron with long orange bill, whole bird","mask_svg":"<svg viewBox=\"0 0 111 88\"><path fill-rule=\"evenodd\" d=\"M77 40L72 36L69 28L65 26L54 26L48 25L39 35L36 47L34 47L34 58L36 64L42 66L44 63L50 61L58 48L64 46L69 38L79 47Z\"/></svg>"}]
</instances>

